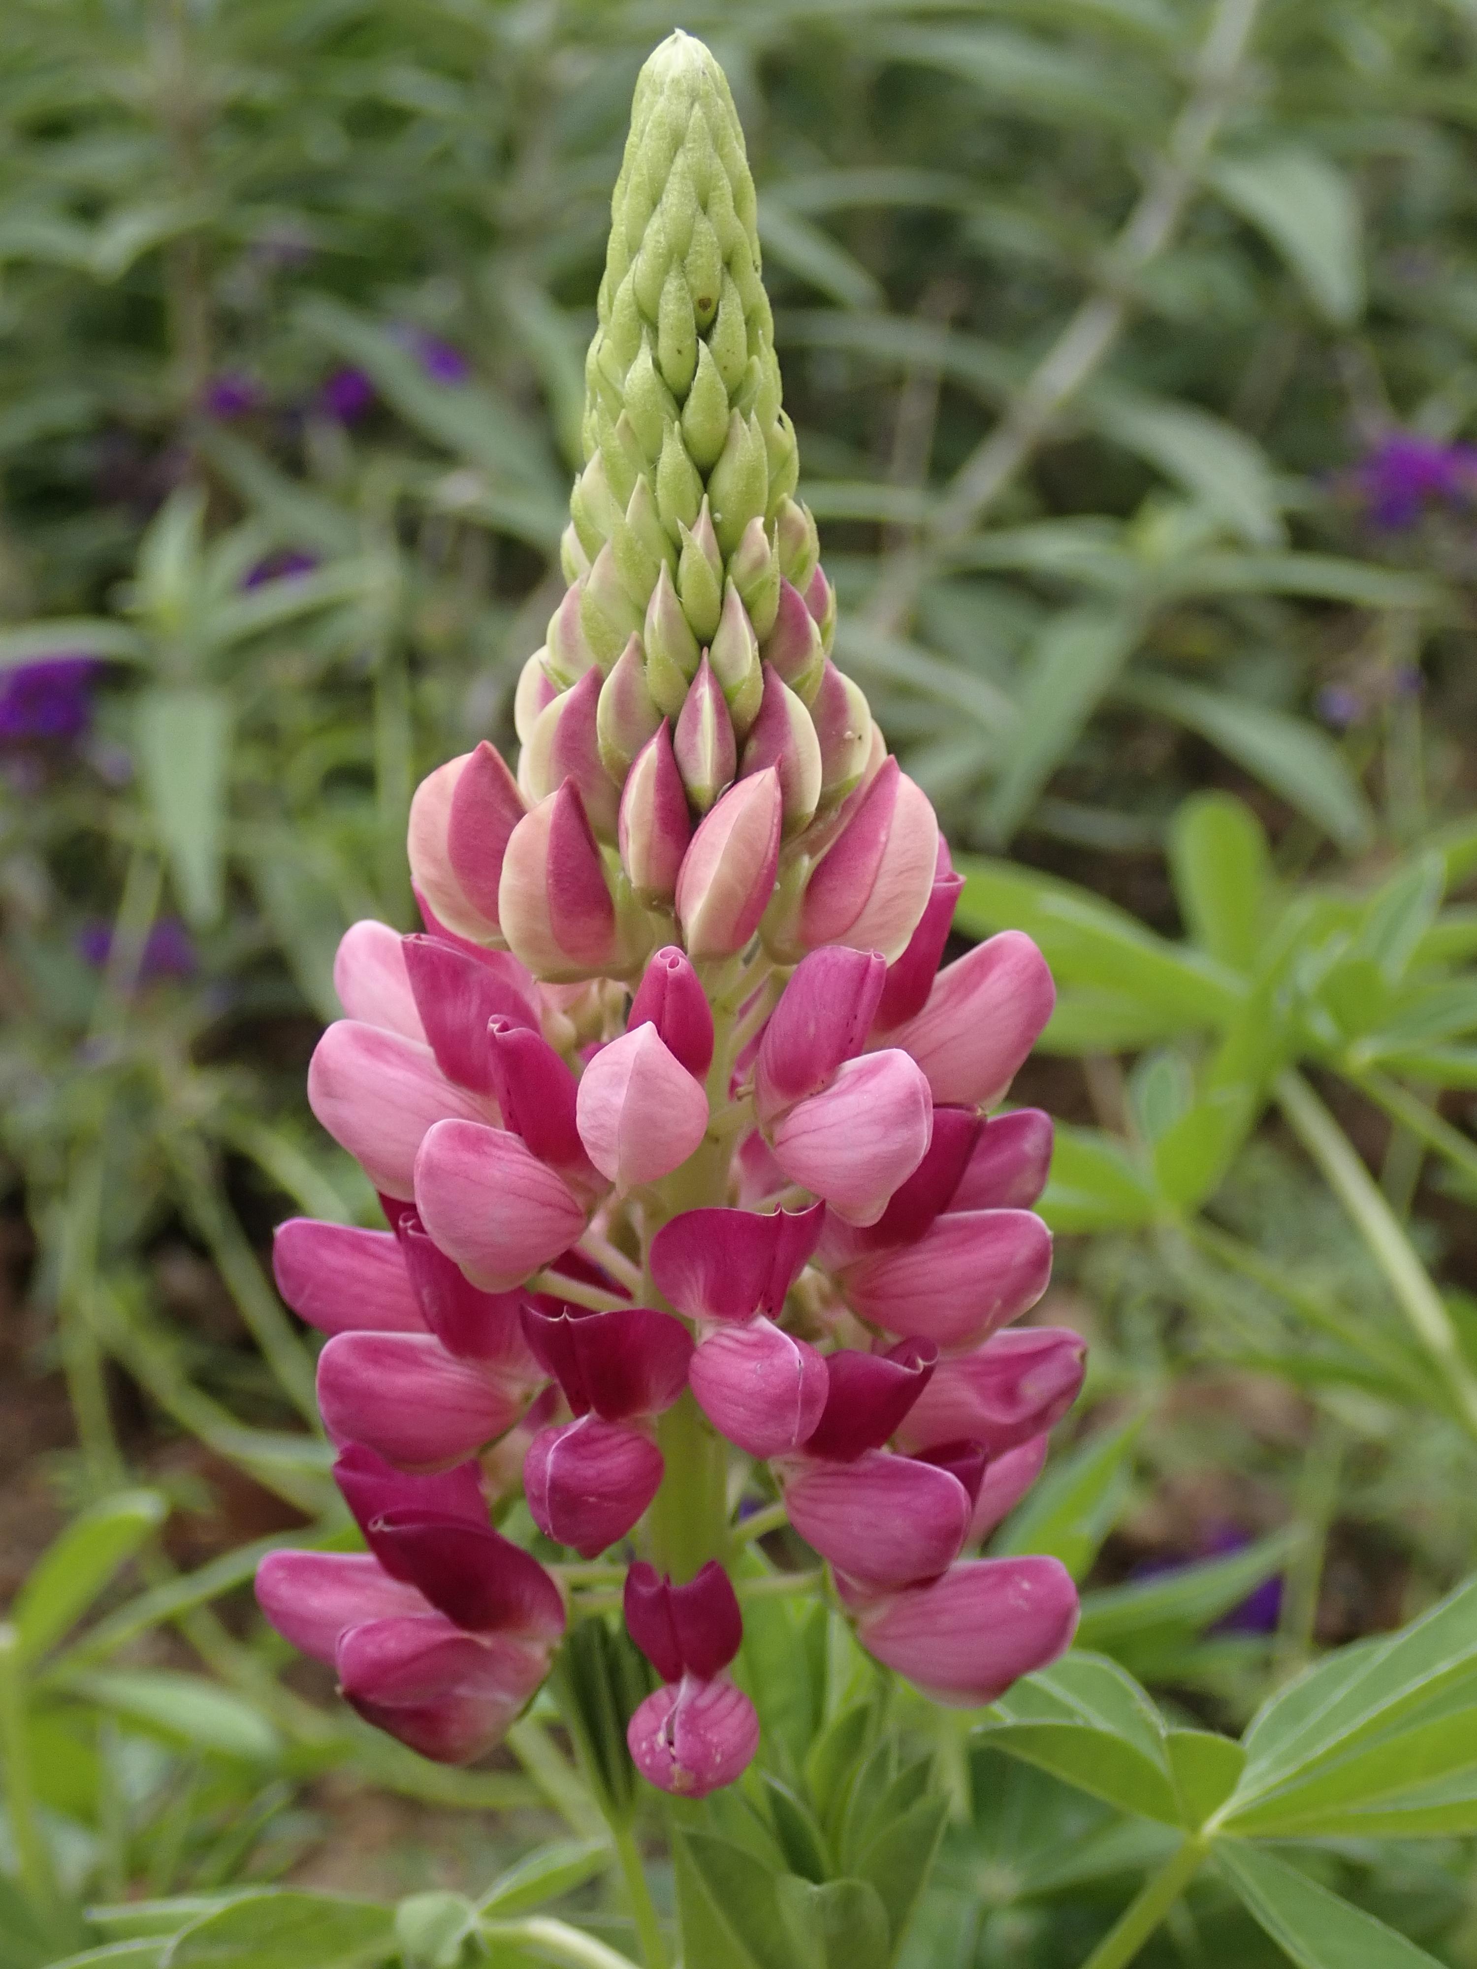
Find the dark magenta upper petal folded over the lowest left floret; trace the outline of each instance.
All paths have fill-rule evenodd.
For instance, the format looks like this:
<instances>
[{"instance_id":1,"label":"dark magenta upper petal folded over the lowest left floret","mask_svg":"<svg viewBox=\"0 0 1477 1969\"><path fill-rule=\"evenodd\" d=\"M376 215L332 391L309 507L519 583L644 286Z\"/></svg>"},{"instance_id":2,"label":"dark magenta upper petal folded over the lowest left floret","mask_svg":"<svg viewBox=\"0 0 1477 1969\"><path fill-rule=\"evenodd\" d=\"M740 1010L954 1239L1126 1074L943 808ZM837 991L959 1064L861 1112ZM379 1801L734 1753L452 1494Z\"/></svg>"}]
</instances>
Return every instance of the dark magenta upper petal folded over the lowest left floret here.
<instances>
[{"instance_id":1,"label":"dark magenta upper petal folded over the lowest left floret","mask_svg":"<svg viewBox=\"0 0 1477 1969\"><path fill-rule=\"evenodd\" d=\"M563 1599L553 1575L492 1526L398 1504L372 1520L370 1534L374 1550L386 1556L386 1571L410 1579L457 1626L510 1630L530 1640L563 1634Z\"/></svg>"}]
</instances>

